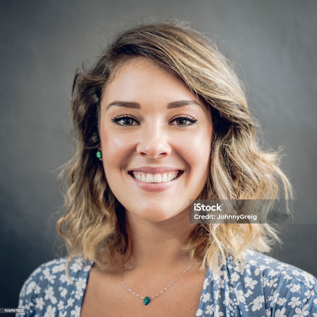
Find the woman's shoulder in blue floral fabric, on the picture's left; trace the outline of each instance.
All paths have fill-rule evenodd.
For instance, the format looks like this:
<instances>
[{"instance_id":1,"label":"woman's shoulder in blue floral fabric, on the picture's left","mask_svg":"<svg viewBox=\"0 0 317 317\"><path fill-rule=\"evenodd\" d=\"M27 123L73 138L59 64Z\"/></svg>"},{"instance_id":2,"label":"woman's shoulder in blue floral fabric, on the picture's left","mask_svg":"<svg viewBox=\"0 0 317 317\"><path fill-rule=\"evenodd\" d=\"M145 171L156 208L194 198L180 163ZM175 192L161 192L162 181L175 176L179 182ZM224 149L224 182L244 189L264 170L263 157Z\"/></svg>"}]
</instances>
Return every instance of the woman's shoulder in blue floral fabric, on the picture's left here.
<instances>
[{"instance_id":1,"label":"woman's shoulder in blue floral fabric, on the picture's left","mask_svg":"<svg viewBox=\"0 0 317 317\"><path fill-rule=\"evenodd\" d=\"M43 263L36 268L24 282L19 295L18 307L26 308L27 314L42 316L43 312L66 311L66 307L74 307L83 297L87 276L92 262L80 257L69 260L66 273L67 258L55 259ZM80 306L79 306L80 307Z\"/></svg>"}]
</instances>

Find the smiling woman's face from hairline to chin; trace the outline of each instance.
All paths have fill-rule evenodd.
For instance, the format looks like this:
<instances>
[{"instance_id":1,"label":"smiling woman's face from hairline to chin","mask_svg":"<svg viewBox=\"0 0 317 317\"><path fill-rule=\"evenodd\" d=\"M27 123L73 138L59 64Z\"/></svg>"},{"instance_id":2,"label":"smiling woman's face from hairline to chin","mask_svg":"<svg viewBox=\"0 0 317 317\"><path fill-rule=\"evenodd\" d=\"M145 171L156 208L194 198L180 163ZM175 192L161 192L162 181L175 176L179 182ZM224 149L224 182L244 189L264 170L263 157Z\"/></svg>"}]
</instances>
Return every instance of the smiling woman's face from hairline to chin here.
<instances>
[{"instance_id":1,"label":"smiling woman's face from hairline to chin","mask_svg":"<svg viewBox=\"0 0 317 317\"><path fill-rule=\"evenodd\" d=\"M145 58L124 64L101 99L107 182L129 212L163 221L188 208L206 182L212 118L204 101Z\"/></svg>"}]
</instances>

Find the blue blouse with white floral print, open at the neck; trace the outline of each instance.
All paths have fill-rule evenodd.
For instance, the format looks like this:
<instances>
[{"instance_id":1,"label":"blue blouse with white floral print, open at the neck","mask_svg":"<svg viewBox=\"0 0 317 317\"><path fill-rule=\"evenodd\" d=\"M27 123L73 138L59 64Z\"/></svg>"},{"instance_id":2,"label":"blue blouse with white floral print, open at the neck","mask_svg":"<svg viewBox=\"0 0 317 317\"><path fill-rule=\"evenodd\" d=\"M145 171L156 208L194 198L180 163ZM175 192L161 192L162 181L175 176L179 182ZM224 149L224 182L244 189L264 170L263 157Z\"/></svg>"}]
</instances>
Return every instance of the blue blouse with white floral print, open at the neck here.
<instances>
[{"instance_id":1,"label":"blue blouse with white floral print, open at the neck","mask_svg":"<svg viewBox=\"0 0 317 317\"><path fill-rule=\"evenodd\" d=\"M207 270L196 316L317 317L314 276L255 251L244 253L236 262L228 256L217 275ZM25 312L16 317L79 317L93 262L75 260L68 267L72 281L66 258L38 267L23 284L18 307Z\"/></svg>"}]
</instances>

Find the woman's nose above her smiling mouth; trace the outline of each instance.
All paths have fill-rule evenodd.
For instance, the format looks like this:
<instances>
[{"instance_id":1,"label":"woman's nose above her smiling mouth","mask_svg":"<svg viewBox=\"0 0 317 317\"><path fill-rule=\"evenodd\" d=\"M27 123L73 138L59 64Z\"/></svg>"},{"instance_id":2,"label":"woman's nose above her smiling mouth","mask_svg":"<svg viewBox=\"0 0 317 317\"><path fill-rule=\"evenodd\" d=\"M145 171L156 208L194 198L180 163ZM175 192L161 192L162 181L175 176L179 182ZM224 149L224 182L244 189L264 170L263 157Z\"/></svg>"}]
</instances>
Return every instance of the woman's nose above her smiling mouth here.
<instances>
[{"instance_id":1,"label":"woman's nose above her smiling mouth","mask_svg":"<svg viewBox=\"0 0 317 317\"><path fill-rule=\"evenodd\" d=\"M150 159L159 159L171 153L168 132L159 124L145 127L140 131L137 152Z\"/></svg>"}]
</instances>

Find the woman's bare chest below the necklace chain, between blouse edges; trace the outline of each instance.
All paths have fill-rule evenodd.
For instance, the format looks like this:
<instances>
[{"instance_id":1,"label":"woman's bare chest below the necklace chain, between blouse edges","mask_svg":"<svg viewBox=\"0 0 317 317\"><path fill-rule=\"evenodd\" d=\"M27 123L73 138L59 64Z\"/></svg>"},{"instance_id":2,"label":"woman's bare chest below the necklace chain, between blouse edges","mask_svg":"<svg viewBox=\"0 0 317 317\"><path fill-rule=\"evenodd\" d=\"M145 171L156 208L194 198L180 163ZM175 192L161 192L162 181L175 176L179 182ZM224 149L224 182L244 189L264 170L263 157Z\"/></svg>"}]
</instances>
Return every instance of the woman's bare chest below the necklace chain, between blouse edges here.
<instances>
[{"instance_id":1,"label":"woman's bare chest below the necklace chain, between blouse edges","mask_svg":"<svg viewBox=\"0 0 317 317\"><path fill-rule=\"evenodd\" d=\"M131 293L121 282L113 276L98 278L94 272L90 273L84 294L80 317L88 316L183 316L195 317L204 283L204 273L187 276L183 280L171 285L164 293L144 305L143 299ZM155 294L141 294L141 296L155 296L162 289L156 289ZM135 290L137 291L137 290Z\"/></svg>"}]
</instances>

